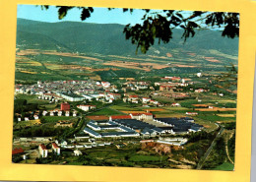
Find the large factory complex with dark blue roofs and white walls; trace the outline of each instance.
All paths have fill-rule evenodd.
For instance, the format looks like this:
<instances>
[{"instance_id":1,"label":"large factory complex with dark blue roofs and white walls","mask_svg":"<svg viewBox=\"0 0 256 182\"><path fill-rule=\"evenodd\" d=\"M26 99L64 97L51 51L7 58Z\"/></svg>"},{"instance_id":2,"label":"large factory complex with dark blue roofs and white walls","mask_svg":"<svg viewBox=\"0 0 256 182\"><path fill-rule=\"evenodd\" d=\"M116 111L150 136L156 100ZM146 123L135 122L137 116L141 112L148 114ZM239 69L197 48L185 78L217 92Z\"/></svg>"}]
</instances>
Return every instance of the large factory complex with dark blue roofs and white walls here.
<instances>
[{"instance_id":1,"label":"large factory complex with dark blue roofs and white walls","mask_svg":"<svg viewBox=\"0 0 256 182\"><path fill-rule=\"evenodd\" d=\"M121 117L120 117L121 118ZM137 119L114 119L110 117L109 121L90 121L84 132L95 138L105 137L140 137L157 136L163 134L188 134L189 132L198 132L203 126L194 123L189 117L183 118L156 118L156 124L161 123L162 127L149 124ZM107 132L111 130L111 132Z\"/></svg>"}]
</instances>

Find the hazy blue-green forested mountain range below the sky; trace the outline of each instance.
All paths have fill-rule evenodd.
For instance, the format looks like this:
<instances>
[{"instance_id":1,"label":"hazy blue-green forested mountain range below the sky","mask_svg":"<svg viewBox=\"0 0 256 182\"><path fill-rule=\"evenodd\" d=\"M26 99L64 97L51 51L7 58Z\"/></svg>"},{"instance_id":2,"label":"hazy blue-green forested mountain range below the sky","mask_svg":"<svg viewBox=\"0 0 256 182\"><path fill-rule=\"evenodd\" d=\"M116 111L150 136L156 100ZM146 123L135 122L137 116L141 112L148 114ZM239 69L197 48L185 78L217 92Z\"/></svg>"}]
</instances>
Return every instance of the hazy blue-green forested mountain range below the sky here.
<instances>
[{"instance_id":1,"label":"hazy blue-green forested mountain range below the sky","mask_svg":"<svg viewBox=\"0 0 256 182\"><path fill-rule=\"evenodd\" d=\"M78 51L105 55L135 55L136 45L125 39L124 26L78 22L42 23L17 20L17 45L20 48ZM223 37L218 30L199 30L184 43L182 30L173 30L168 44L156 43L148 52L165 55L173 49L184 49L198 54L209 50L237 56L238 38Z\"/></svg>"}]
</instances>

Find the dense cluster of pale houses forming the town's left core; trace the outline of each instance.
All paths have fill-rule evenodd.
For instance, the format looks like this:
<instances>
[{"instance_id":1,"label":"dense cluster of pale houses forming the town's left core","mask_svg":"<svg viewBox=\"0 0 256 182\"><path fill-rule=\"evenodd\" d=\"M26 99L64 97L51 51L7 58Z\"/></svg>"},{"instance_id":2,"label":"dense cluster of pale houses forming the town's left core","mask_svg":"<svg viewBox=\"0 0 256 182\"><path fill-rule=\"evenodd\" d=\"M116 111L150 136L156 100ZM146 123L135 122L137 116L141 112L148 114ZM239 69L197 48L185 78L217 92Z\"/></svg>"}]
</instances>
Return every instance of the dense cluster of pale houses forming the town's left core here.
<instances>
[{"instance_id":1,"label":"dense cluster of pale houses forming the town's left core","mask_svg":"<svg viewBox=\"0 0 256 182\"><path fill-rule=\"evenodd\" d=\"M65 99L67 101L82 101L96 98L112 102L114 99L121 98L116 93L117 87L109 82L88 81L53 81L40 82L34 85L16 85L15 93L31 93L38 95L39 99L58 102ZM108 92L107 94L105 92Z\"/></svg>"}]
</instances>

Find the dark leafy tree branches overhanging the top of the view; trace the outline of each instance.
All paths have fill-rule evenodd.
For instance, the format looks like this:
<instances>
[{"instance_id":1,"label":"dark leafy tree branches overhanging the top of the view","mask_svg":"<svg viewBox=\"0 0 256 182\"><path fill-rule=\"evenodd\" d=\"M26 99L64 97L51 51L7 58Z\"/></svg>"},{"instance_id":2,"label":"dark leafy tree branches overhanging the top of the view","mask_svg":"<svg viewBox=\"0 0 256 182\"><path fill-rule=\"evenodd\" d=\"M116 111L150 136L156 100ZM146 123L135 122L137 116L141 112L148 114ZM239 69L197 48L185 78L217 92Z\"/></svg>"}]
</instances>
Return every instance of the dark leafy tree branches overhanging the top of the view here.
<instances>
[{"instance_id":1,"label":"dark leafy tree branches overhanging the top of the view","mask_svg":"<svg viewBox=\"0 0 256 182\"><path fill-rule=\"evenodd\" d=\"M48 5L41 6L47 10ZM81 10L80 18L82 21L87 20L94 13L93 7L71 7L57 6L58 18L61 20L71 9L77 8ZM112 10L113 8L108 8ZM133 9L123 8L123 12L133 13ZM184 42L187 38L193 37L196 30L217 29L222 30L222 35L234 38L239 35L239 14L224 12L200 12L194 11L184 14L185 11L175 10L149 10L145 12L142 24L134 26L128 24L123 32L126 39L130 39L132 44L136 44L136 53L140 49L142 53L146 53L149 48L158 42L168 43L172 38L172 30L178 28L183 30L181 38Z\"/></svg>"}]
</instances>

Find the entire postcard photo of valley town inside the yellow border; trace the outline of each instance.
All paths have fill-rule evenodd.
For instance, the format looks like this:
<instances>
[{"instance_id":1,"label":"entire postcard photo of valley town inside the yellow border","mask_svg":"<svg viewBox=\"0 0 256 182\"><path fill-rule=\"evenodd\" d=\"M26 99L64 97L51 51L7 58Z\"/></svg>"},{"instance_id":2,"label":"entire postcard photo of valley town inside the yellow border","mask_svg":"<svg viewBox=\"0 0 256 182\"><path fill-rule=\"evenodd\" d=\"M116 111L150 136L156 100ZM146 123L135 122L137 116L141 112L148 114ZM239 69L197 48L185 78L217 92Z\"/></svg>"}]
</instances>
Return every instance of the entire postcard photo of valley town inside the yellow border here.
<instances>
[{"instance_id":1,"label":"entire postcard photo of valley town inside the yellow border","mask_svg":"<svg viewBox=\"0 0 256 182\"><path fill-rule=\"evenodd\" d=\"M232 171L238 16L19 5L12 162Z\"/></svg>"}]
</instances>

